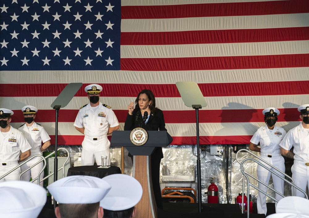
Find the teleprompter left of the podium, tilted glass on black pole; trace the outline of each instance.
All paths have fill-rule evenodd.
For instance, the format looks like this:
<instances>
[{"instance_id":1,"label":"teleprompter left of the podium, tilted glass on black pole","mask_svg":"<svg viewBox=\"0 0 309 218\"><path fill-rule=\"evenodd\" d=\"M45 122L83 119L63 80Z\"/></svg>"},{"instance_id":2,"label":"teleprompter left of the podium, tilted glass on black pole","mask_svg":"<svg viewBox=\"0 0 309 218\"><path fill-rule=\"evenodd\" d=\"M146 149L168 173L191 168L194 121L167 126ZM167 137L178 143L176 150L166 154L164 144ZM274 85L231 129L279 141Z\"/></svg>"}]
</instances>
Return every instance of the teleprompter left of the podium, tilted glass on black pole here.
<instances>
[{"instance_id":1,"label":"teleprompter left of the podium, tilted glass on black pole","mask_svg":"<svg viewBox=\"0 0 309 218\"><path fill-rule=\"evenodd\" d=\"M56 125L55 125L55 159L54 159L54 181L58 178L58 115L59 109L64 108L72 100L77 91L82 87L83 83L70 83L62 90L58 97L50 105L56 112ZM56 206L56 204L54 204Z\"/></svg>"}]
</instances>

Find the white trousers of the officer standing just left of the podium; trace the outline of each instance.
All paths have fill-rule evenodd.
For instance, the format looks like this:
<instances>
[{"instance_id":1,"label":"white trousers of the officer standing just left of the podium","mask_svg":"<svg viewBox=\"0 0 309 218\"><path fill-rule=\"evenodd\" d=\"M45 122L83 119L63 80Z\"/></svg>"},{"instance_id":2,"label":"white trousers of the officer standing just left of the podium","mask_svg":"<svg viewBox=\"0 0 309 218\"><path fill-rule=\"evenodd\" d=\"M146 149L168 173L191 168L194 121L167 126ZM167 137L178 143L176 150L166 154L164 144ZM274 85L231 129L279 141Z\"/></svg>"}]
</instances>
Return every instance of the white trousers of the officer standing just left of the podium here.
<instances>
[{"instance_id":1,"label":"white trousers of the officer standing just left of the podium","mask_svg":"<svg viewBox=\"0 0 309 218\"><path fill-rule=\"evenodd\" d=\"M107 137L99 140L91 140L85 137L82 143L82 166L93 165L94 162L102 165L101 155L107 156L107 165L111 165L109 146L110 142Z\"/></svg>"}]
</instances>

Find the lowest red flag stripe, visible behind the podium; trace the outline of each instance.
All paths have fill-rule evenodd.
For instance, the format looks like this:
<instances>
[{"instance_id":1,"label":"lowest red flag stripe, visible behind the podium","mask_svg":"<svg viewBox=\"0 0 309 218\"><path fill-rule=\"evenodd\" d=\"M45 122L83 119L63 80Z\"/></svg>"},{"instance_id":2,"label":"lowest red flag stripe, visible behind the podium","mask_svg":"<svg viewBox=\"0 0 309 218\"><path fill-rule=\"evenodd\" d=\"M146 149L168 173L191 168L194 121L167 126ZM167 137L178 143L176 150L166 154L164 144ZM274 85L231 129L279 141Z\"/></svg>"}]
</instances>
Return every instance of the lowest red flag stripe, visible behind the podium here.
<instances>
[{"instance_id":1,"label":"lowest red flag stripe, visible behind the podium","mask_svg":"<svg viewBox=\"0 0 309 218\"><path fill-rule=\"evenodd\" d=\"M118 130L119 131L119 130ZM55 144L55 136L50 136L50 142ZM201 145L210 144L249 144L252 135L243 136L200 136ZM111 136L108 136L111 140ZM58 145L81 145L84 140L83 135L58 135ZM129 139L128 139L129 140ZM173 136L171 145L196 145L196 136ZM111 145L112 146L112 145Z\"/></svg>"}]
</instances>

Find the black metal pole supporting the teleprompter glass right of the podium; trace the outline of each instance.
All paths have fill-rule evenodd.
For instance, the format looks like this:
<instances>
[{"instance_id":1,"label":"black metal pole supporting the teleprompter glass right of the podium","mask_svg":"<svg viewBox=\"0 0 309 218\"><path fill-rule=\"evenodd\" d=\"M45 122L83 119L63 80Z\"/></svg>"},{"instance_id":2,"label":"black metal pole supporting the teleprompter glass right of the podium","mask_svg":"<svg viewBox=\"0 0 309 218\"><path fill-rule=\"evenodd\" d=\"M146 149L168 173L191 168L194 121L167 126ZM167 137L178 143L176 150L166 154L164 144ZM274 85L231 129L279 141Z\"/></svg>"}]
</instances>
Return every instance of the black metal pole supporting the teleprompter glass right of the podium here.
<instances>
[{"instance_id":1,"label":"black metal pole supporting the teleprompter glass right of the podium","mask_svg":"<svg viewBox=\"0 0 309 218\"><path fill-rule=\"evenodd\" d=\"M197 197L198 197L198 212L202 212L202 183L201 183L201 160L200 160L200 133L198 127L198 109L201 109L201 105L192 105L196 112L196 136L197 136Z\"/></svg>"}]
</instances>

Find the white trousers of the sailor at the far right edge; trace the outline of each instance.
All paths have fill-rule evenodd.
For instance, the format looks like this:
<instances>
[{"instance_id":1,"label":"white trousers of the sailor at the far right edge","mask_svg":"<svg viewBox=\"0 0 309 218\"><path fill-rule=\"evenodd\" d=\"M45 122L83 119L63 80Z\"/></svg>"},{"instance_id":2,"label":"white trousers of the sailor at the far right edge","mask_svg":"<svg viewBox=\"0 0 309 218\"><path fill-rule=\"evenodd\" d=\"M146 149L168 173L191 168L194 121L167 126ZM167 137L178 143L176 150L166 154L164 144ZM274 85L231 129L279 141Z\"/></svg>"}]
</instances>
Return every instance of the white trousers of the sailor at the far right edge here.
<instances>
[{"instance_id":1,"label":"white trousers of the sailor at the far right edge","mask_svg":"<svg viewBox=\"0 0 309 218\"><path fill-rule=\"evenodd\" d=\"M294 164L291 168L291 171L292 171L292 179L294 179L295 185L306 192L306 186L309 187L309 167L307 167L305 163L296 163L296 160L294 160ZM292 188L292 194L293 193L294 192ZM305 197L305 194L295 189L295 196L303 198Z\"/></svg>"}]
</instances>

